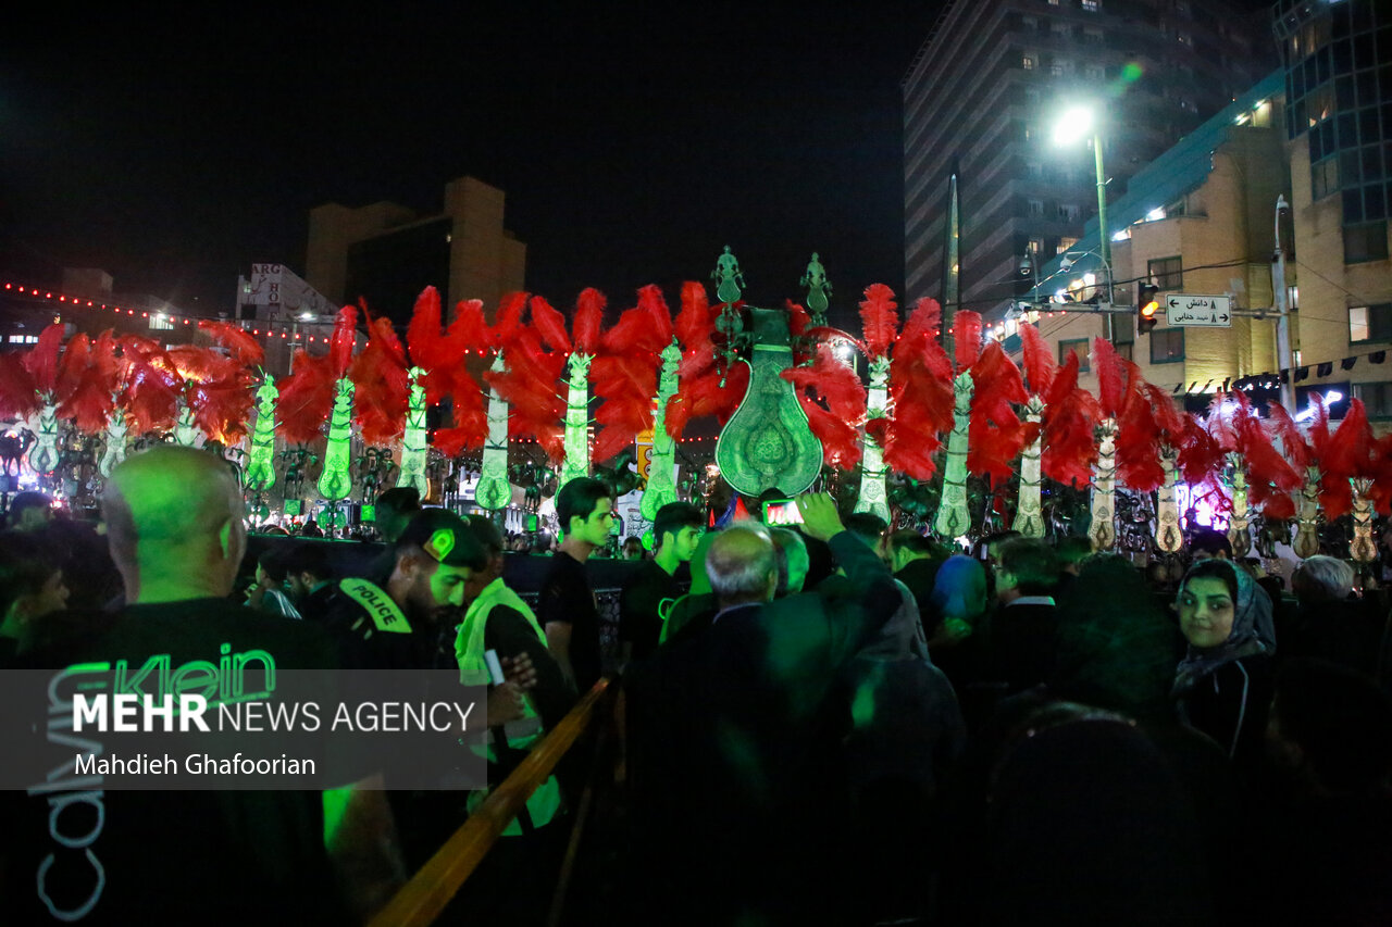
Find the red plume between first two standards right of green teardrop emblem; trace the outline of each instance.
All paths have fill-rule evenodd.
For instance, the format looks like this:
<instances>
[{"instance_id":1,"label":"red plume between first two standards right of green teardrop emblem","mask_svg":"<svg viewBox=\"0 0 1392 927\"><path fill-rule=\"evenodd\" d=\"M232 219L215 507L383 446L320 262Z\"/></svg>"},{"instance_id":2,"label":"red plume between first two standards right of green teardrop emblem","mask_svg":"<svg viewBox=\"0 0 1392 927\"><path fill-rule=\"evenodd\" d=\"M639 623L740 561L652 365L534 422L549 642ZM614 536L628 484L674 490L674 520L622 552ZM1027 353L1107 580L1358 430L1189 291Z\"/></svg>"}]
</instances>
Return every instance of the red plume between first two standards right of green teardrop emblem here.
<instances>
[{"instance_id":1,"label":"red plume between first two standards right of green teardrop emblem","mask_svg":"<svg viewBox=\"0 0 1392 927\"><path fill-rule=\"evenodd\" d=\"M952 430L952 360L938 341L941 319L934 299L920 299L909 313L889 360L889 418L866 426L885 465L916 480L937 470L940 436Z\"/></svg>"}]
</instances>

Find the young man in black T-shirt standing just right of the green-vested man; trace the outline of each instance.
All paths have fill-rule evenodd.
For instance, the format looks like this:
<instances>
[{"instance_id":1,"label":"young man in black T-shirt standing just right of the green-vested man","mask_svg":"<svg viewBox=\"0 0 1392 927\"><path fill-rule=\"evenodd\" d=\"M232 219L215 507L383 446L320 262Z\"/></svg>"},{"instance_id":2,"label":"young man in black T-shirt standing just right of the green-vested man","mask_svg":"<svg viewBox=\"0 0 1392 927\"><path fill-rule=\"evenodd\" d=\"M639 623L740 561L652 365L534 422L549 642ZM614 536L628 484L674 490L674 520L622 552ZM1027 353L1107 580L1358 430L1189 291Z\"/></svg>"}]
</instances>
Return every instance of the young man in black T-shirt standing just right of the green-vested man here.
<instances>
[{"instance_id":1,"label":"young man in black T-shirt standing just right of the green-vested man","mask_svg":"<svg viewBox=\"0 0 1392 927\"><path fill-rule=\"evenodd\" d=\"M582 695L603 671L600 612L585 561L608 541L612 507L610 489L590 476L571 480L555 494L555 515L565 539L541 583L536 610L551 656Z\"/></svg>"}]
</instances>

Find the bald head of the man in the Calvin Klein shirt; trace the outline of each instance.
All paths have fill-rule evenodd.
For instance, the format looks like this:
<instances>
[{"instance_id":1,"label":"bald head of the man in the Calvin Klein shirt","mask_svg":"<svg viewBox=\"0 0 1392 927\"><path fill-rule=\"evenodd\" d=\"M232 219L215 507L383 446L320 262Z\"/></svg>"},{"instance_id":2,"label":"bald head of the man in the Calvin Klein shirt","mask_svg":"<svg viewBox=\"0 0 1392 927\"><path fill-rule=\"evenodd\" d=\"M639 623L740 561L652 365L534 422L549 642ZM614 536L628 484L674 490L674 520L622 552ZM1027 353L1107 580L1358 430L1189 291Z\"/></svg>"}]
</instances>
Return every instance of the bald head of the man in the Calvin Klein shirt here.
<instances>
[{"instance_id":1,"label":"bald head of the man in the Calvin Klein shirt","mask_svg":"<svg viewBox=\"0 0 1392 927\"><path fill-rule=\"evenodd\" d=\"M102 511L128 603L231 592L246 530L226 461L173 444L134 454L111 472Z\"/></svg>"}]
</instances>

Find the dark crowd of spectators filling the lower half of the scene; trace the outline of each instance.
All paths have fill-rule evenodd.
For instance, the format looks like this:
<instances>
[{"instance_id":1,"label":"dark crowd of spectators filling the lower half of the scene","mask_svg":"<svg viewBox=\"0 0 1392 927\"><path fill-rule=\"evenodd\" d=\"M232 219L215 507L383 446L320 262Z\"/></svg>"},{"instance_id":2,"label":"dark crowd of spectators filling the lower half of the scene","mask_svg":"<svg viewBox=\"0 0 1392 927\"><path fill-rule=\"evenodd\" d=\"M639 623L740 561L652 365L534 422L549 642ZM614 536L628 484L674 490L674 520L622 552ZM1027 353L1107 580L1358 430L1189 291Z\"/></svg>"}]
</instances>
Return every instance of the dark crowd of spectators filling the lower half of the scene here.
<instances>
[{"instance_id":1,"label":"dark crowd of spectators filling the lower half of the scene","mask_svg":"<svg viewBox=\"0 0 1392 927\"><path fill-rule=\"evenodd\" d=\"M451 668L487 686L490 788L615 676L621 813L580 846L603 857L582 870L615 870L612 923L1392 923L1392 642L1340 560L1306 560L1288 593L1217 532L1143 571L1086 539L967 555L818 494L795 528L709 530L674 502L651 553L617 546L635 562L611 642L589 571L615 547L603 482L557 494L535 596L491 519L386 502L386 547L347 568L324 543L246 555L235 479L200 451L127 459L102 533L19 494L0 665L231 644ZM441 923L544 923L589 768L571 760ZM362 921L486 795L381 775L8 793L0 905L6 923Z\"/></svg>"}]
</instances>

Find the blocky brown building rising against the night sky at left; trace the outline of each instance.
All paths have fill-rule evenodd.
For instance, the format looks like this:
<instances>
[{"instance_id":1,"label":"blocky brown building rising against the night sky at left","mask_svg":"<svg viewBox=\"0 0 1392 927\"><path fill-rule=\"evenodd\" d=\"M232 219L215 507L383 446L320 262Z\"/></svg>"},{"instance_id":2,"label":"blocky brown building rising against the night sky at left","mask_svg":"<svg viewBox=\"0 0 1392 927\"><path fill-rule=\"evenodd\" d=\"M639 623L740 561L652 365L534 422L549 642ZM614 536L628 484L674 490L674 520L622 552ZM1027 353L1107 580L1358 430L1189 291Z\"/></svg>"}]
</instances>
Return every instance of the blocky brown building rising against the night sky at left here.
<instances>
[{"instance_id":1,"label":"blocky brown building rising against the night sky at left","mask_svg":"<svg viewBox=\"0 0 1392 927\"><path fill-rule=\"evenodd\" d=\"M491 313L504 294L523 288L526 274L526 245L503 221L503 191L473 177L447 184L434 216L388 202L316 206L305 280L340 305L365 299L398 324L409 322L427 285L441 290L448 308L482 299Z\"/></svg>"}]
</instances>

